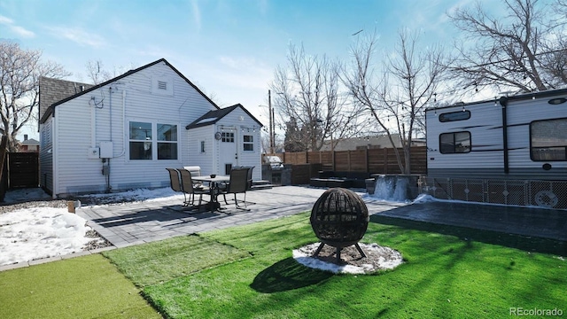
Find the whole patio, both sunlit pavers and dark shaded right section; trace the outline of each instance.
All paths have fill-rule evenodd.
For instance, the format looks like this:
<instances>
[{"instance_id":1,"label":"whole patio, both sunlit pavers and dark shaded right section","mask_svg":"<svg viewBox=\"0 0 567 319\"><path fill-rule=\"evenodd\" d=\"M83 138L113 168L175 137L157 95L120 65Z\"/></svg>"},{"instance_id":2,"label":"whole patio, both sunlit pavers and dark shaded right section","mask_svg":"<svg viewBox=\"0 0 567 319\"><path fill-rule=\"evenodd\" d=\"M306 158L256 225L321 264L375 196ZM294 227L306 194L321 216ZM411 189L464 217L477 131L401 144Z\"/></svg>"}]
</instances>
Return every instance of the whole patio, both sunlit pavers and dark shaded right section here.
<instances>
[{"instance_id":1,"label":"whole patio, both sunlit pavers and dark shaded right section","mask_svg":"<svg viewBox=\"0 0 567 319\"><path fill-rule=\"evenodd\" d=\"M248 205L248 211L237 209L230 201L228 206L221 202L226 208L221 212L185 211L180 195L173 201L82 206L76 214L87 219L89 226L113 245L123 247L309 211L324 191L301 186L249 191L246 200L255 204ZM358 193L369 214L567 241L567 211L563 210L437 201L409 205Z\"/></svg>"}]
</instances>

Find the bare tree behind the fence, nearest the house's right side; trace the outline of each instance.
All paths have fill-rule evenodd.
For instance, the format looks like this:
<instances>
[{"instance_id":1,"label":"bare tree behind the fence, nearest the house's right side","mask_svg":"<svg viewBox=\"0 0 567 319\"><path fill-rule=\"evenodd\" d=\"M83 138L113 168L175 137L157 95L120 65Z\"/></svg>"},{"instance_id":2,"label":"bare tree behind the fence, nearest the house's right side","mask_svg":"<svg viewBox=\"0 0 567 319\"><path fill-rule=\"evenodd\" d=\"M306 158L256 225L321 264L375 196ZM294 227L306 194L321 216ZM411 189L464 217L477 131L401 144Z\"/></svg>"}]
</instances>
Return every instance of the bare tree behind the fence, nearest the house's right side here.
<instances>
[{"instance_id":1,"label":"bare tree behind the fence, nearest the house's right side","mask_svg":"<svg viewBox=\"0 0 567 319\"><path fill-rule=\"evenodd\" d=\"M340 92L338 70L329 58L307 55L303 46L290 45L288 63L276 68L271 85L276 110L297 128L294 134L286 134L285 144L318 151L327 139L336 141L355 133L356 112ZM289 122L285 127L290 128Z\"/></svg>"}]
</instances>

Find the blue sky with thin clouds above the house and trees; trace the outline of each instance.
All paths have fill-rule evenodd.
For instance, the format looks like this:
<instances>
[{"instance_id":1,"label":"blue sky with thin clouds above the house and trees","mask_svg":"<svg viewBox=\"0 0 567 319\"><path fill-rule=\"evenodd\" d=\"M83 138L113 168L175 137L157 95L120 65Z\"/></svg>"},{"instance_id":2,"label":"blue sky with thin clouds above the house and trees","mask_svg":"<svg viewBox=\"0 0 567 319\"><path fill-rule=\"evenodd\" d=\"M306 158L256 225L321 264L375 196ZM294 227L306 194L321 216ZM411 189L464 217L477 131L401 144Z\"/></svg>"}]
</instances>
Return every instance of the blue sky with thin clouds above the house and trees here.
<instances>
[{"instance_id":1,"label":"blue sky with thin clouds above the house and trees","mask_svg":"<svg viewBox=\"0 0 567 319\"><path fill-rule=\"evenodd\" d=\"M450 44L446 12L471 0L2 0L0 39L89 82L88 61L119 74L166 58L221 106L240 103L268 125L268 87L290 43L346 61L359 30L391 50L402 27ZM118 75L118 74L117 74ZM36 128L26 132L37 139Z\"/></svg>"}]
</instances>

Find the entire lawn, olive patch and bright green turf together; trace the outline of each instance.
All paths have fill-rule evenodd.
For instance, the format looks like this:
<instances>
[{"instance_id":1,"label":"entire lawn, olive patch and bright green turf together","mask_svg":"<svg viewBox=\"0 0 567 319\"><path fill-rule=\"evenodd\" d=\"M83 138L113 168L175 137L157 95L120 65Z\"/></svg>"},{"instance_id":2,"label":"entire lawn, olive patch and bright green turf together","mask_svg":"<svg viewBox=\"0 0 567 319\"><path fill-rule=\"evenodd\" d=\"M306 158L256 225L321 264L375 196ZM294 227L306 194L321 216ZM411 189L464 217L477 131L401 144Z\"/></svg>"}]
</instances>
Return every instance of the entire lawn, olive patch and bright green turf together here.
<instances>
[{"instance_id":1,"label":"entire lawn, olive patch and bright green turf together","mask_svg":"<svg viewBox=\"0 0 567 319\"><path fill-rule=\"evenodd\" d=\"M375 215L362 241L397 249L406 262L352 276L291 258L292 249L315 241L308 214L297 214L116 249L104 253L108 259L95 254L7 270L0 272L0 318L495 318L509 316L511 307L567 312L565 242Z\"/></svg>"}]
</instances>

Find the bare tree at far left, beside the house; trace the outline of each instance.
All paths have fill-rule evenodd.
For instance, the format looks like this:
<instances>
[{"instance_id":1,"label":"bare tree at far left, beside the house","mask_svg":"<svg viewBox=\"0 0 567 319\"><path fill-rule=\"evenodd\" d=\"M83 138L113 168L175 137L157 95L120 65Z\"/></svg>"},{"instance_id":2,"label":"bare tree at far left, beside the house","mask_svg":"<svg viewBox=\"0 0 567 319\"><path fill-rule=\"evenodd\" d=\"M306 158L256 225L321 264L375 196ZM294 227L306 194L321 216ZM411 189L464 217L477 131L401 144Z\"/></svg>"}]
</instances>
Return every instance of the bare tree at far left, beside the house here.
<instances>
[{"instance_id":1,"label":"bare tree at far left, beside the house","mask_svg":"<svg viewBox=\"0 0 567 319\"><path fill-rule=\"evenodd\" d=\"M37 121L39 77L71 75L55 62L42 62L42 51L23 50L17 43L0 42L0 133L7 136L8 150L17 152L16 136L30 120Z\"/></svg>"}]
</instances>

